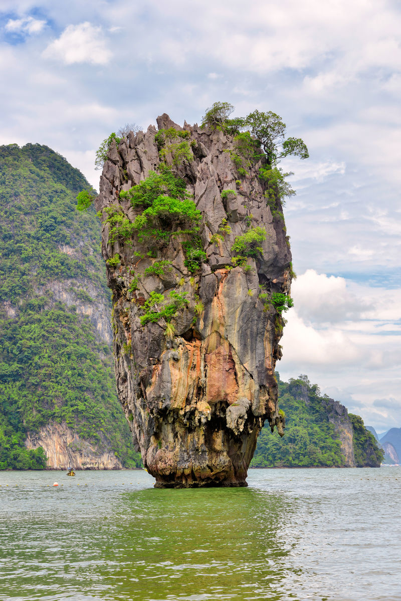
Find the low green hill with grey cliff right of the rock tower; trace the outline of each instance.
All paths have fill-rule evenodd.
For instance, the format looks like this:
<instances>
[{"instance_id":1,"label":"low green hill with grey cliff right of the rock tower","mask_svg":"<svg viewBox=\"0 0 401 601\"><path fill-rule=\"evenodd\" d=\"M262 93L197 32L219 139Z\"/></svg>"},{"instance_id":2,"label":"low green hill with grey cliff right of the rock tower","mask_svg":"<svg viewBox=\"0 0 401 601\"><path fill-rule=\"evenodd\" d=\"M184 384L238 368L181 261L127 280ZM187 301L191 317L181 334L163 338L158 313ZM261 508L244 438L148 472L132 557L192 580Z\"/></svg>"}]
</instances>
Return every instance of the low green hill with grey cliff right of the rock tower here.
<instances>
[{"instance_id":1,"label":"low green hill with grey cliff right of the rock tower","mask_svg":"<svg viewBox=\"0 0 401 601\"><path fill-rule=\"evenodd\" d=\"M383 453L360 416L321 395L307 376L286 383L276 375L286 430L280 438L268 426L263 428L251 467L380 466Z\"/></svg>"}]
</instances>

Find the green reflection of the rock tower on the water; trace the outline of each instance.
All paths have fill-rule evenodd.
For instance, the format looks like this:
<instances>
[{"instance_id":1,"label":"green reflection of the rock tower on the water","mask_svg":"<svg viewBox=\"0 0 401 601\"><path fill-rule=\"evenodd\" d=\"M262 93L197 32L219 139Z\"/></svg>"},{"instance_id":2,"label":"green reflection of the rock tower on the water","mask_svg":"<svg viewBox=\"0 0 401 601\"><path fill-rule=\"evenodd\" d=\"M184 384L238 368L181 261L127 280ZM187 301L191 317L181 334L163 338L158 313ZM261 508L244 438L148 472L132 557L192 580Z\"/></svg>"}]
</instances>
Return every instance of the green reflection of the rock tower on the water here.
<instances>
[{"instance_id":1,"label":"green reflection of the rock tower on the water","mask_svg":"<svg viewBox=\"0 0 401 601\"><path fill-rule=\"evenodd\" d=\"M124 495L120 511L126 518L107 549L117 567L102 570L114 579L116 598L283 598L293 512L280 495L142 490Z\"/></svg>"}]
</instances>

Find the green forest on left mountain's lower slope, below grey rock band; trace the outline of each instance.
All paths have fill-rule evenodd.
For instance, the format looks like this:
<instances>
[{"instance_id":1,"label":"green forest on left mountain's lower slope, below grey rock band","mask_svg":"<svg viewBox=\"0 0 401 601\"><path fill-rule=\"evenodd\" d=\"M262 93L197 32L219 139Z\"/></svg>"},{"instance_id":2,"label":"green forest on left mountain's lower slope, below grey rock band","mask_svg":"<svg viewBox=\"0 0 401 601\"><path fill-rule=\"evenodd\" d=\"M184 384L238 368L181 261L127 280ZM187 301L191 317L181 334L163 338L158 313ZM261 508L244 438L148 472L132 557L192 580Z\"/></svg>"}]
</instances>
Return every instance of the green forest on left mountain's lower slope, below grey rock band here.
<instances>
[{"instance_id":1,"label":"green forest on left mountain's lower slope, below grey rock band","mask_svg":"<svg viewBox=\"0 0 401 601\"><path fill-rule=\"evenodd\" d=\"M35 432L51 420L65 421L85 440L108 439L117 454L127 447L127 441L121 444L124 416L115 399L111 351L96 340L87 318L43 297L26 301L19 319L2 323L0 356L8 427Z\"/></svg>"}]
</instances>

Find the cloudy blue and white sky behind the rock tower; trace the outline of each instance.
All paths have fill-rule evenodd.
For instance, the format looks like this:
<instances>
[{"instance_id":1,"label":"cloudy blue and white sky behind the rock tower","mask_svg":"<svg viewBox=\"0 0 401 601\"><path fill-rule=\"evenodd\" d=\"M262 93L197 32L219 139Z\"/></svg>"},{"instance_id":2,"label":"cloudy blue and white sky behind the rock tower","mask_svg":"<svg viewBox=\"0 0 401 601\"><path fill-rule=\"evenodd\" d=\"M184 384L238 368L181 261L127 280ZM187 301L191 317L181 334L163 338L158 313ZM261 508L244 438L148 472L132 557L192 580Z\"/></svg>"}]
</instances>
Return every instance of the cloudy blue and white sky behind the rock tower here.
<instances>
[{"instance_id":1,"label":"cloudy blue and white sky behind the rock tower","mask_svg":"<svg viewBox=\"0 0 401 601\"><path fill-rule=\"evenodd\" d=\"M213 102L281 115L295 308L282 379L401 426L401 5L382 0L1 0L0 144L38 142L94 188L100 142Z\"/></svg>"}]
</instances>

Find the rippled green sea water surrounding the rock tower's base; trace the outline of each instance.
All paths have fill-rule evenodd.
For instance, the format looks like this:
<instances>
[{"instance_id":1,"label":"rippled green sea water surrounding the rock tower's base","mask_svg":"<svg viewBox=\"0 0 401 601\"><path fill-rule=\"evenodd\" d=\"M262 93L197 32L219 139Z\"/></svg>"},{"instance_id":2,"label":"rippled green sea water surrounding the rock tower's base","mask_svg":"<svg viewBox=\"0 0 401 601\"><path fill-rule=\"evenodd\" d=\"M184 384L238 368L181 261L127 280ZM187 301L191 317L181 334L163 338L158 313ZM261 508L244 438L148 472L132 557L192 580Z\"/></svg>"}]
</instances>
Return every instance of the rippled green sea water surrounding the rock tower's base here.
<instances>
[{"instance_id":1,"label":"rippled green sea water surrounding the rock tower's base","mask_svg":"<svg viewBox=\"0 0 401 601\"><path fill-rule=\"evenodd\" d=\"M57 481L59 486L53 487ZM0 472L0 599L400 601L401 469Z\"/></svg>"}]
</instances>

